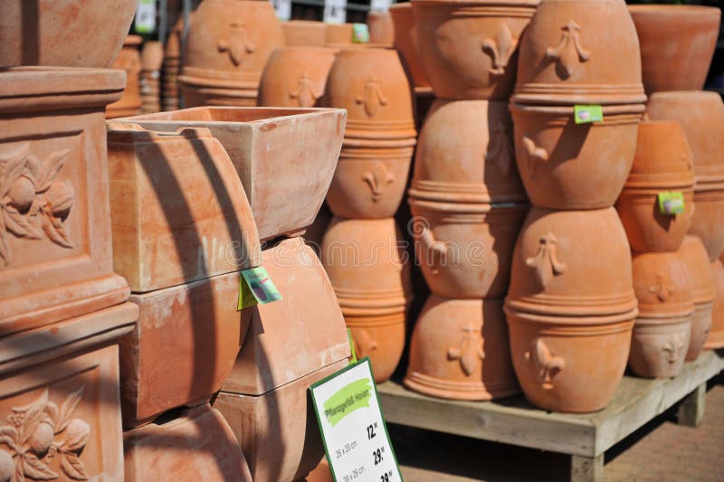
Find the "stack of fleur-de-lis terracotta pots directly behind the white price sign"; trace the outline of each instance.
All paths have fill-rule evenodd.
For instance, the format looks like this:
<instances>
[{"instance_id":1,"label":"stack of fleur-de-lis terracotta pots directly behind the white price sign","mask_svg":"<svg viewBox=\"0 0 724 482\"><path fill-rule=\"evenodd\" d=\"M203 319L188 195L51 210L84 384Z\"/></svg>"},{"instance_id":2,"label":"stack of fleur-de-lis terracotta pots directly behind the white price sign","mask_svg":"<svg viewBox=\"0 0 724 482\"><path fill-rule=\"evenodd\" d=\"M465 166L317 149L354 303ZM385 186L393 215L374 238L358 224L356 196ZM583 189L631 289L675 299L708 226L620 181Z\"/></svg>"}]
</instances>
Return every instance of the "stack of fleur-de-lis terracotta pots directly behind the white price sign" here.
<instances>
[{"instance_id":1,"label":"stack of fleur-de-lis terracotta pots directly behind the white price sign","mask_svg":"<svg viewBox=\"0 0 724 482\"><path fill-rule=\"evenodd\" d=\"M405 194L416 131L397 53L343 47L329 72L324 103L348 109L348 123L327 194L335 219L321 256L357 355L370 357L382 382L402 356L411 300L405 247L393 216Z\"/></svg>"}]
</instances>

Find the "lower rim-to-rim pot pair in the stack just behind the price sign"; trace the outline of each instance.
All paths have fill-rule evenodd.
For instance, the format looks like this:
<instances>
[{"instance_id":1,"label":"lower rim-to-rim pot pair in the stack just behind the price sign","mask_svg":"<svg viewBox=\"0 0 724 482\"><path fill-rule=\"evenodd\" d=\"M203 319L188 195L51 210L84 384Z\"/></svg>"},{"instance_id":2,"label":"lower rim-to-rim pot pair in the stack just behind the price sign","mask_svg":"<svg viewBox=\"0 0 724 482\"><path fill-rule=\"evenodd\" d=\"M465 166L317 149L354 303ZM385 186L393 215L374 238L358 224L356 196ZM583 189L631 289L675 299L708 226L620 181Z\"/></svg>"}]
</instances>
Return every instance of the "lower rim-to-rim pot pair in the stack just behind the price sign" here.
<instances>
[{"instance_id":1,"label":"lower rim-to-rim pot pair in the stack just behind the price sign","mask_svg":"<svg viewBox=\"0 0 724 482\"><path fill-rule=\"evenodd\" d=\"M405 347L405 309L412 291L401 236L392 218L335 218L322 240L322 263L357 356L370 357L376 383L389 379Z\"/></svg>"}]
</instances>

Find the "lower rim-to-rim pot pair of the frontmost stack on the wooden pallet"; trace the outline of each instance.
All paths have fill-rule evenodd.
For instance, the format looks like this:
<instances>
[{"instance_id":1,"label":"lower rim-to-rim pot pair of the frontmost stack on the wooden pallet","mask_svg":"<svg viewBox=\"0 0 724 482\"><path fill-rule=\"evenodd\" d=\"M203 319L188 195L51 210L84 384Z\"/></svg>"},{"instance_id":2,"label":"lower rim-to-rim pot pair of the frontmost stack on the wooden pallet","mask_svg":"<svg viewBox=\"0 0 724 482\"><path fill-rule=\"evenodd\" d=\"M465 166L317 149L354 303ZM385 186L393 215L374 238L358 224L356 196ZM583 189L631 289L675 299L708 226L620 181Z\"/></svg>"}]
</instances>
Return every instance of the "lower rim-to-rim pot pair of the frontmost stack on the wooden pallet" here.
<instances>
[{"instance_id":1,"label":"lower rim-to-rim pot pair of the frontmost stack on the wooden pallet","mask_svg":"<svg viewBox=\"0 0 724 482\"><path fill-rule=\"evenodd\" d=\"M614 208L533 208L513 254L505 312L529 402L551 411L603 409L624 375L638 312Z\"/></svg>"}]
</instances>

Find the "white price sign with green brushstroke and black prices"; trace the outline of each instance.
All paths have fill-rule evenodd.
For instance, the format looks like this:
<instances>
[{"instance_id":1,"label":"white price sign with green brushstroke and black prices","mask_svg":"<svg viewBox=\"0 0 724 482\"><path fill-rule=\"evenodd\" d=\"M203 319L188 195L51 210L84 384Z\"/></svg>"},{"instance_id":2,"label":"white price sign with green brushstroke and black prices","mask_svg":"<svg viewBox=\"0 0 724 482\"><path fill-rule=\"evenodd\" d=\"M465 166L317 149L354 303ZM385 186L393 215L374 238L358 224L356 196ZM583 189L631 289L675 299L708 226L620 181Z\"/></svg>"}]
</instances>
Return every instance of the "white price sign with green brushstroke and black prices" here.
<instances>
[{"instance_id":1,"label":"white price sign with green brushstroke and black prices","mask_svg":"<svg viewBox=\"0 0 724 482\"><path fill-rule=\"evenodd\" d=\"M368 358L310 391L335 482L402 482Z\"/></svg>"}]
</instances>

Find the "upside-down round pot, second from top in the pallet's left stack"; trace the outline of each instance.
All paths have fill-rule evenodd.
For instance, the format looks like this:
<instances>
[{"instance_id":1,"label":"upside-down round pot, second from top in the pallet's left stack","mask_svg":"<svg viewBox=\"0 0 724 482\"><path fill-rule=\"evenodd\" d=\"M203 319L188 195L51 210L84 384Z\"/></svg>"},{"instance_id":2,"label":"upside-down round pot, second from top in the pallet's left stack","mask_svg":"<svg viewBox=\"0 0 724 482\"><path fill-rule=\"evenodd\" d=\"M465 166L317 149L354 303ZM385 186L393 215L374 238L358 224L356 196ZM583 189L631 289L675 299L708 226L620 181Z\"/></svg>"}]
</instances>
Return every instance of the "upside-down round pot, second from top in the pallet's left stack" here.
<instances>
[{"instance_id":1,"label":"upside-down round pot, second from top in the pallet's left stack","mask_svg":"<svg viewBox=\"0 0 724 482\"><path fill-rule=\"evenodd\" d=\"M526 203L512 128L507 102L436 99L418 139L410 195L443 203Z\"/></svg>"}]
</instances>

